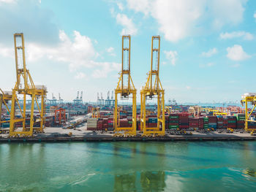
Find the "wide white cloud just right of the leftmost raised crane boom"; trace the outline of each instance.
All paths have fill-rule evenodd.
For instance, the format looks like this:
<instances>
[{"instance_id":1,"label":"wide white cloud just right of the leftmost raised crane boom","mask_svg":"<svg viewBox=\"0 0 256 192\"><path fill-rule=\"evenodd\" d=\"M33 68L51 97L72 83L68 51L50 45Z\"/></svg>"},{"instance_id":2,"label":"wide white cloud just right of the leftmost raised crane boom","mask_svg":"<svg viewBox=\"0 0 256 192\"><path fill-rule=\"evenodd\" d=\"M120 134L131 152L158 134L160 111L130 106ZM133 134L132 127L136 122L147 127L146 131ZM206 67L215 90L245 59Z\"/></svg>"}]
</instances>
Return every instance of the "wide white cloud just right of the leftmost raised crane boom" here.
<instances>
[{"instance_id":1,"label":"wide white cloud just right of the leftmost raised crane boom","mask_svg":"<svg viewBox=\"0 0 256 192\"><path fill-rule=\"evenodd\" d=\"M74 40L69 39L64 31L59 31L60 43L56 47L27 43L28 61L37 61L47 57L53 61L69 64L69 69L75 71L80 66L93 67L91 60L97 57L91 39L73 31Z\"/></svg>"}]
</instances>

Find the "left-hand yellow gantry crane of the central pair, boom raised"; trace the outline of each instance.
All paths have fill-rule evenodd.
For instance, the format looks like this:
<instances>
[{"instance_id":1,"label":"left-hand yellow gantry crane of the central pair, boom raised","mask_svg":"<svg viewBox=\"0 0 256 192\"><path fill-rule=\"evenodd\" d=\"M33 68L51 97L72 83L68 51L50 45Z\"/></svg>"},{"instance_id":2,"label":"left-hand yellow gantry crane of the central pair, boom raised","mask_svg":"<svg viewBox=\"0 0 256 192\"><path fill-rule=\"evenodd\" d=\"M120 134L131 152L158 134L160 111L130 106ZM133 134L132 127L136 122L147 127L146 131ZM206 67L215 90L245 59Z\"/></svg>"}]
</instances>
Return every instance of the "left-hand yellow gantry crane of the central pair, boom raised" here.
<instances>
[{"instance_id":1,"label":"left-hand yellow gantry crane of the central pair, boom raised","mask_svg":"<svg viewBox=\"0 0 256 192\"><path fill-rule=\"evenodd\" d=\"M122 37L122 65L118 85L115 89L115 110L114 110L114 128L115 136L136 136L136 89L132 82L130 74L130 50L131 37L129 35ZM118 94L121 99L129 99L132 94L132 127L120 127L118 120Z\"/></svg>"}]
</instances>

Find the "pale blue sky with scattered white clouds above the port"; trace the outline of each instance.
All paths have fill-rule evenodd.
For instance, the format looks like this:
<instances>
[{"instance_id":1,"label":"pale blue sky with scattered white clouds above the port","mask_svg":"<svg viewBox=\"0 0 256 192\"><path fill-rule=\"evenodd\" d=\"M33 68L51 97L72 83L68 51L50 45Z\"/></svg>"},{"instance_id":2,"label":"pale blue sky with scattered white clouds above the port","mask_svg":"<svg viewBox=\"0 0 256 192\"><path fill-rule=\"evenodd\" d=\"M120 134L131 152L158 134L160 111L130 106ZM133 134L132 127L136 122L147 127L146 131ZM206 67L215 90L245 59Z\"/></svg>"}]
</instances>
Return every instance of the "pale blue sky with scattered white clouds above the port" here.
<instances>
[{"instance_id":1,"label":"pale blue sky with scattered white clouds above the port","mask_svg":"<svg viewBox=\"0 0 256 192\"><path fill-rule=\"evenodd\" d=\"M0 88L15 85L13 34L23 32L37 85L72 101L107 97L121 69L121 36L131 35L131 75L140 99L161 37L165 99L239 101L256 92L256 1L0 0ZM138 100L139 101L139 100Z\"/></svg>"}]
</instances>

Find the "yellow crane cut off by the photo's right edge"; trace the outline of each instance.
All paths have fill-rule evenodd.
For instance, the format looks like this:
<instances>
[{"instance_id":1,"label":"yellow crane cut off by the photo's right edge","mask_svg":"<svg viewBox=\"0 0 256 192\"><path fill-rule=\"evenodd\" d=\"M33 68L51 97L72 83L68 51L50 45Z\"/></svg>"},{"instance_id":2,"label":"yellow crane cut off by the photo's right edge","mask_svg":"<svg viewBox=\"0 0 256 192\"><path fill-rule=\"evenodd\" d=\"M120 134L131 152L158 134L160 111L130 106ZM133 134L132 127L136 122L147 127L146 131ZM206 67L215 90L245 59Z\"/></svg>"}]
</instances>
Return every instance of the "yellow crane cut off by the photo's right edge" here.
<instances>
[{"instance_id":1,"label":"yellow crane cut off by the photo's right edge","mask_svg":"<svg viewBox=\"0 0 256 192\"><path fill-rule=\"evenodd\" d=\"M249 122L256 122L256 120L251 120L250 117L252 112L255 111L256 107L256 93L245 93L242 96L241 104L245 104L245 131L255 131L253 128L249 128ZM249 110L248 104L252 104L252 110Z\"/></svg>"}]
</instances>

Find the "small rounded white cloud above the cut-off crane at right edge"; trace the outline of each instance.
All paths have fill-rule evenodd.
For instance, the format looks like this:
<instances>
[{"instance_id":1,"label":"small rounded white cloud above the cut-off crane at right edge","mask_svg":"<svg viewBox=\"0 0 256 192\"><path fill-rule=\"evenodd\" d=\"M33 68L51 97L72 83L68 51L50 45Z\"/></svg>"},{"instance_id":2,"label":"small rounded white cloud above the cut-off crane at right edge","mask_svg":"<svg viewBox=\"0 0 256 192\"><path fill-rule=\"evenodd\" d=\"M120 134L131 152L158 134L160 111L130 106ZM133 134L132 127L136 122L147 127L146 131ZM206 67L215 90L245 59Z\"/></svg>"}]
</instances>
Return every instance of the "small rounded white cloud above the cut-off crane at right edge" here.
<instances>
[{"instance_id":1,"label":"small rounded white cloud above the cut-off crane at right edge","mask_svg":"<svg viewBox=\"0 0 256 192\"><path fill-rule=\"evenodd\" d=\"M251 56L244 52L241 45L234 45L233 47L227 47L227 58L233 61L242 61Z\"/></svg>"}]
</instances>

